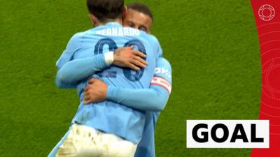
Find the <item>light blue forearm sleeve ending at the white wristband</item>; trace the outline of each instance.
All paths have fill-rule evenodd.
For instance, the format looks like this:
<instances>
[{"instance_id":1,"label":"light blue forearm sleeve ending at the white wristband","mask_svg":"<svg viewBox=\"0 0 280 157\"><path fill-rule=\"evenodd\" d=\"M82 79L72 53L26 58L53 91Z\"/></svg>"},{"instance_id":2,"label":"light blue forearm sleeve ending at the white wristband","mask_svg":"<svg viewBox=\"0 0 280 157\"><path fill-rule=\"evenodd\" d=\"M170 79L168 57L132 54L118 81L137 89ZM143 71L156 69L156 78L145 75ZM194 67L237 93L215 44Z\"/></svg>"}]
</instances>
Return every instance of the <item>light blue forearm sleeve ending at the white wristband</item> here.
<instances>
[{"instance_id":1,"label":"light blue forearm sleeve ending at the white wristband","mask_svg":"<svg viewBox=\"0 0 280 157\"><path fill-rule=\"evenodd\" d=\"M97 54L94 57L69 61L57 71L57 87L76 87L81 80L107 67L109 67L109 64L106 63L104 54Z\"/></svg>"}]
</instances>

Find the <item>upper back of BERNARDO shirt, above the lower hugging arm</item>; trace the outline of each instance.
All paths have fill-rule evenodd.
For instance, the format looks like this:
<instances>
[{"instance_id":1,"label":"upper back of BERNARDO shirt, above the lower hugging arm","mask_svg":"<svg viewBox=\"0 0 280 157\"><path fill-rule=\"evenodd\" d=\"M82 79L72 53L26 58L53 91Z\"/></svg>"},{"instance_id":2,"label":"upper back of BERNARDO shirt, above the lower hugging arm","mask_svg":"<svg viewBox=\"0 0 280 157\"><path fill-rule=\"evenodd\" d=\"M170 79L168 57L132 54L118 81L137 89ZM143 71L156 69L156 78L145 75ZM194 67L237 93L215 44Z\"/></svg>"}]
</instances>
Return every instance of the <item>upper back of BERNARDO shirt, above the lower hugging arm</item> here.
<instances>
[{"instance_id":1,"label":"upper back of BERNARDO shirt, above the lower hugging arm","mask_svg":"<svg viewBox=\"0 0 280 157\"><path fill-rule=\"evenodd\" d=\"M99 73L99 77L117 87L145 88L150 85L156 59L162 53L159 52L160 47L156 38L138 29L122 27L118 23L109 23L90 29L81 33L80 38L82 47L73 55L74 59L103 54L116 50L118 47L134 45L136 49L144 52L147 56L146 61L149 65L145 69L135 72L128 68L111 66ZM117 78L117 80L112 78Z\"/></svg>"}]
</instances>

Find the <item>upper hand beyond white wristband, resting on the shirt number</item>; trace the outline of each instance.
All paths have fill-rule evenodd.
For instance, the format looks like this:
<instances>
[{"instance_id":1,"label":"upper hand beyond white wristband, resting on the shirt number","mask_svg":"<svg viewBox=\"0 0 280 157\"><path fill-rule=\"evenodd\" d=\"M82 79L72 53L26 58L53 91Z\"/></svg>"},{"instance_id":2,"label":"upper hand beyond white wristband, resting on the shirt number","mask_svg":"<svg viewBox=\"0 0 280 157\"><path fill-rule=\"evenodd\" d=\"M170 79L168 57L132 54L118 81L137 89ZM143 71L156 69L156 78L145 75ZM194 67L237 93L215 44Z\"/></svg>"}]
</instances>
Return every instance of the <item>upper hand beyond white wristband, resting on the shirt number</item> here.
<instances>
[{"instance_id":1,"label":"upper hand beyond white wristband, resting on the shirt number","mask_svg":"<svg viewBox=\"0 0 280 157\"><path fill-rule=\"evenodd\" d=\"M113 52L113 65L140 70L146 68L148 62L144 60L146 55L138 50L133 50L134 46L118 48Z\"/></svg>"}]
</instances>

